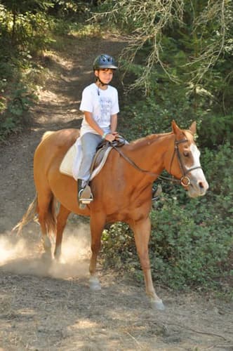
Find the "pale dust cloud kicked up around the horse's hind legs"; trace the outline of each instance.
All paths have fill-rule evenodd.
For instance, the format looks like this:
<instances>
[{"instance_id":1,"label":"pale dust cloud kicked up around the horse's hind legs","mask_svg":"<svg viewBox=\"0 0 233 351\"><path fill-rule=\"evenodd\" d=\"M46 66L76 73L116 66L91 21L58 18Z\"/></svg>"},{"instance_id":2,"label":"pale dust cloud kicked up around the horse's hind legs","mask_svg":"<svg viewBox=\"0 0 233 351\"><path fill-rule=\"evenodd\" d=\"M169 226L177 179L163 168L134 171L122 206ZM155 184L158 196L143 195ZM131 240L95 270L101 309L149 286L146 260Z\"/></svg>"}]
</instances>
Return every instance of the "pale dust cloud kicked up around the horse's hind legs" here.
<instances>
[{"instance_id":1,"label":"pale dust cloud kicked up around the horse's hind legs","mask_svg":"<svg viewBox=\"0 0 233 351\"><path fill-rule=\"evenodd\" d=\"M41 277L69 279L87 277L91 256L88 225L67 225L62 240L61 260L44 255L38 227L26 230L22 236L0 233L0 268L15 274L33 274ZM52 241L54 251L55 239Z\"/></svg>"}]
</instances>

